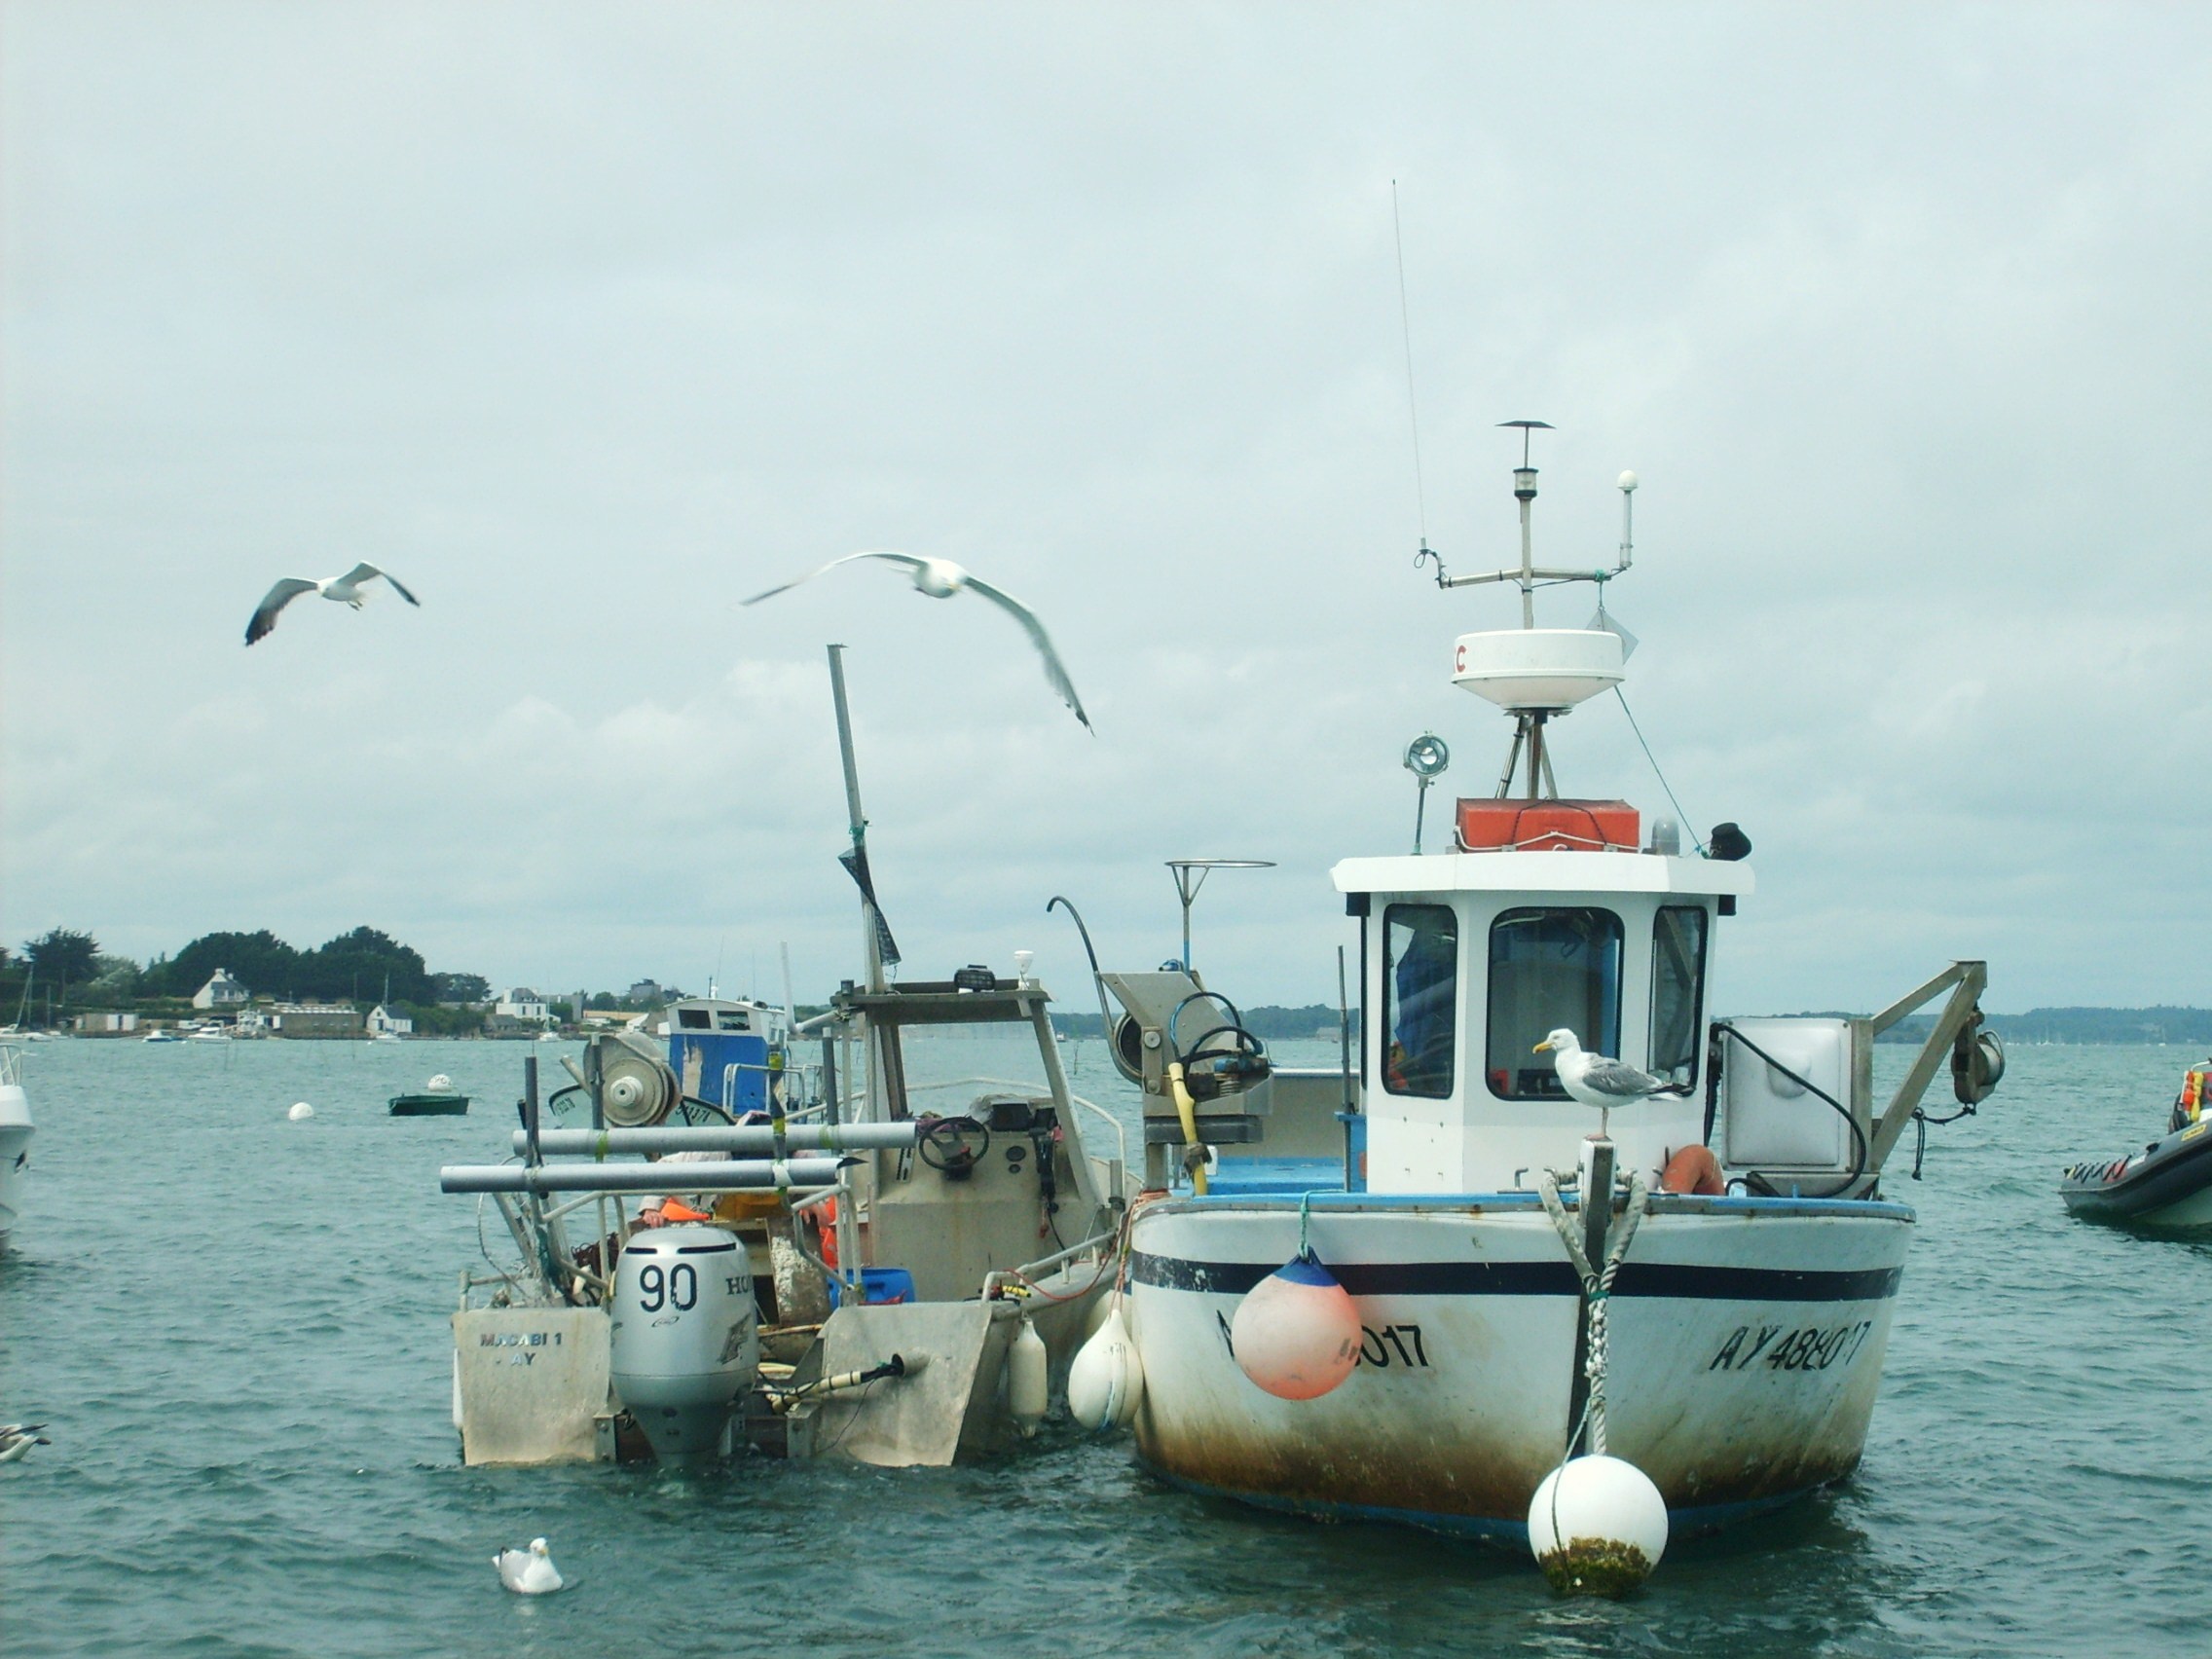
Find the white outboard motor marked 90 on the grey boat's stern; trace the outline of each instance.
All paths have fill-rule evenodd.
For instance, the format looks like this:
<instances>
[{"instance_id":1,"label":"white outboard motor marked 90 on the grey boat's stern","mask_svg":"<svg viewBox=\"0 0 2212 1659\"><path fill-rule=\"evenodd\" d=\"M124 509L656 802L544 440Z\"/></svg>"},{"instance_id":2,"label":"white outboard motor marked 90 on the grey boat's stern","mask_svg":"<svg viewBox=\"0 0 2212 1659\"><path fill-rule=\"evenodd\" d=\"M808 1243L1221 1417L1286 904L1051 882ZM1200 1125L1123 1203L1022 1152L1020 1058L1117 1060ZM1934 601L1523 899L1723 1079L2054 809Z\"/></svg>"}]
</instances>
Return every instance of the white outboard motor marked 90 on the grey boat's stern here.
<instances>
[{"instance_id":1,"label":"white outboard motor marked 90 on the grey boat's stern","mask_svg":"<svg viewBox=\"0 0 2212 1659\"><path fill-rule=\"evenodd\" d=\"M686 1467L728 1451L730 1407L761 1365L752 1261L723 1228L637 1232L615 1270L615 1391L653 1442Z\"/></svg>"}]
</instances>

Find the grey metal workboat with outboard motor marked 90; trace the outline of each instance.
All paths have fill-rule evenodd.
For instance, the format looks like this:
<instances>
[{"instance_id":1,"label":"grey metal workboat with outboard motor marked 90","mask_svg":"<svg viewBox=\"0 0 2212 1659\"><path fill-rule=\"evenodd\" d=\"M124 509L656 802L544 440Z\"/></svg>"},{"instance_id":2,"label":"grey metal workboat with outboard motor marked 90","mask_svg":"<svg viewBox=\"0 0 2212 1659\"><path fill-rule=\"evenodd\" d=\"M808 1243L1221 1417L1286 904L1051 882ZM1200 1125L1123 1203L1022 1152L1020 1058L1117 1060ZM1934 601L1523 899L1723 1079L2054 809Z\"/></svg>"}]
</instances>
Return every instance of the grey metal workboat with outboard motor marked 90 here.
<instances>
[{"instance_id":1,"label":"grey metal workboat with outboard motor marked 90","mask_svg":"<svg viewBox=\"0 0 2212 1659\"><path fill-rule=\"evenodd\" d=\"M1082 1119L1121 1128L1071 1093L1026 951L891 982L836 646L830 672L863 975L803 1022L686 998L659 1042L564 1055L542 1104L524 1060L511 1161L440 1170L513 1245L453 1314L465 1462L984 1455L1042 1422L1108 1290L1126 1155ZM991 1029L1026 1077L920 1075L916 1037Z\"/></svg>"}]
</instances>

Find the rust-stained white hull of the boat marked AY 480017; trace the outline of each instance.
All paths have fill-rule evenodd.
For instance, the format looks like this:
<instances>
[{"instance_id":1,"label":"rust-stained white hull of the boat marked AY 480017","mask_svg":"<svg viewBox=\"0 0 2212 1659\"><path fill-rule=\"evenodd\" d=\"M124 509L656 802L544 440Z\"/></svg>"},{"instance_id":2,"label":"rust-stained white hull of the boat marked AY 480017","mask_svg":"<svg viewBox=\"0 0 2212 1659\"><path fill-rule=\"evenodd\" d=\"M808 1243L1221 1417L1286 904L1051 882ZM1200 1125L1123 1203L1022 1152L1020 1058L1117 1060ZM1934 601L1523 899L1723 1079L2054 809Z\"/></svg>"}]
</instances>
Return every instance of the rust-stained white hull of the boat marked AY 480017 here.
<instances>
[{"instance_id":1,"label":"rust-stained white hull of the boat marked AY 480017","mask_svg":"<svg viewBox=\"0 0 2212 1659\"><path fill-rule=\"evenodd\" d=\"M1230 1352L1243 1292L1298 1250L1296 1199L1159 1201L1133 1221L1137 1449L1203 1491L1524 1537L1579 1409L1579 1283L1542 1208L1316 1201L1360 1365L1318 1400ZM1911 1237L1891 1203L1661 1199L1610 1301L1608 1449L1674 1526L1721 1526L1847 1475L1867 1442Z\"/></svg>"}]
</instances>

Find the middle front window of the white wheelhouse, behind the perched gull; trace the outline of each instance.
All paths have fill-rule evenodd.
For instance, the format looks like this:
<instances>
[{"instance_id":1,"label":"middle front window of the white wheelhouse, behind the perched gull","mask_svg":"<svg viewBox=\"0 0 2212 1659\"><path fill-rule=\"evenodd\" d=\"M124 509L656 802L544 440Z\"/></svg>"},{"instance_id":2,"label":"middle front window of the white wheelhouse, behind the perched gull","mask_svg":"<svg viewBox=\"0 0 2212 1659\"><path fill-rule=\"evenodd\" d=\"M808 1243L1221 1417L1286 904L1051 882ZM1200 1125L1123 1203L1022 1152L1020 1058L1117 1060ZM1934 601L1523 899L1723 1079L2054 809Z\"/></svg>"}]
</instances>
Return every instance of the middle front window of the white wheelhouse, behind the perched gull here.
<instances>
[{"instance_id":1,"label":"middle front window of the white wheelhouse, behind the perched gull","mask_svg":"<svg viewBox=\"0 0 2212 1659\"><path fill-rule=\"evenodd\" d=\"M1551 1055L1566 1026L1584 1048L1621 1053L1621 918L1610 909L1509 909L1491 922L1491 1093L1564 1099Z\"/></svg>"}]
</instances>

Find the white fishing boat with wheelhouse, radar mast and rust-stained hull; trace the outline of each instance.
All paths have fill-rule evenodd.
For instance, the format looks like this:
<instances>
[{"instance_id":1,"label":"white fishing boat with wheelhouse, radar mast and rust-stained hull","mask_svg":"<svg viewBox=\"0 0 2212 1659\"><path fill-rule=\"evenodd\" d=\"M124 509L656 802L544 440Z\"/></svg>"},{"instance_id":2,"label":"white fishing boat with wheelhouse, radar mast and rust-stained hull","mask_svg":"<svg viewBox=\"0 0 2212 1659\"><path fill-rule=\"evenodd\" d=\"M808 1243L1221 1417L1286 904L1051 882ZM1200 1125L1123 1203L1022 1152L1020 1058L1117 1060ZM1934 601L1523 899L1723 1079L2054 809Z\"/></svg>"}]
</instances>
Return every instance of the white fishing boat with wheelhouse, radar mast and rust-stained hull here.
<instances>
[{"instance_id":1,"label":"white fishing boat with wheelhouse, radar mast and rust-stained hull","mask_svg":"<svg viewBox=\"0 0 2212 1659\"><path fill-rule=\"evenodd\" d=\"M1365 1009L1343 1075L1276 1073L1188 947L1099 975L1121 1009L1108 1048L1144 1091L1146 1177L1121 1325L1099 1338L1130 1356L1091 1416L1130 1420L1141 1462L1181 1486L1528 1542L1555 1584L1601 1586L1604 1564L1566 1548L1568 1480L1626 1464L1650 1489L1648 1571L1668 1531L1858 1464L1916 1225L1885 1159L1947 1060L1971 1106L2002 1048L1980 1029L1982 962L1871 1018L1710 1018L1750 841L1721 825L1686 852L1674 821L1553 779L1551 728L1624 681L1604 586L1630 568L1635 476L1617 560L1595 566L1535 564L1526 449L1513 478L1517 566L1447 575L1422 549L1447 593L1520 588L1520 628L1460 635L1451 657L1511 748L1447 849L1422 849L1416 807L1411 854L1334 867ZM1577 582L1599 586L1597 619L1540 628L1535 591ZM1447 763L1416 739L1422 799ZM1876 1035L1938 995L1876 1102ZM1626 1093L1593 1108L1606 1075Z\"/></svg>"}]
</instances>

